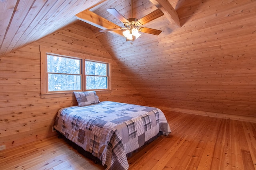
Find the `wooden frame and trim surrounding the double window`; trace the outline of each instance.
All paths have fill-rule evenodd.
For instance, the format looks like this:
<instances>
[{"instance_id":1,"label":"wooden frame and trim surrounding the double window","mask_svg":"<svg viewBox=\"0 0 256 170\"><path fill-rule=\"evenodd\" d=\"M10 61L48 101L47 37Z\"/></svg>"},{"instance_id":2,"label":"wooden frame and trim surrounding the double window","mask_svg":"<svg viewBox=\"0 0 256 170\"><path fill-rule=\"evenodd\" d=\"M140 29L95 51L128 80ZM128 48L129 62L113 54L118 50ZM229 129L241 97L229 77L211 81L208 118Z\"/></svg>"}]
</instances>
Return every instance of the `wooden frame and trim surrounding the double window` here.
<instances>
[{"instance_id":1,"label":"wooden frame and trim surrounding the double window","mask_svg":"<svg viewBox=\"0 0 256 170\"><path fill-rule=\"evenodd\" d=\"M60 57L68 57L73 59L81 60L81 90L70 90L70 91L50 91L48 92L48 70L47 70L47 55L55 55ZM41 98L53 98L66 96L67 94L71 94L74 91L90 91L86 90L86 75L85 75L85 61L93 61L98 63L106 63L108 64L107 68L107 77L108 84L107 89L93 89L94 91L100 92L108 92L111 91L111 65L112 60L106 59L103 57L97 57L88 54L76 53L72 51L66 51L63 49L55 49L51 47L44 47L40 45L40 57L41 57Z\"/></svg>"}]
</instances>

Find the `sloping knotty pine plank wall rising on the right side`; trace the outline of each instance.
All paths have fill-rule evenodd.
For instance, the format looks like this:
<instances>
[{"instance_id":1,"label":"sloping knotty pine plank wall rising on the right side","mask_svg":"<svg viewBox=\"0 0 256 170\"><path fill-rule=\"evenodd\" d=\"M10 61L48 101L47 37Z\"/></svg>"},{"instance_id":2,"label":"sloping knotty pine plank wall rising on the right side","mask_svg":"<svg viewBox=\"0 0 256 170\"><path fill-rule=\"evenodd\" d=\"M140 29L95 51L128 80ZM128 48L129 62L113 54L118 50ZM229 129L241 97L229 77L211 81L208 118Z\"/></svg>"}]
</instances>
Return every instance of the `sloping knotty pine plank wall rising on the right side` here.
<instances>
[{"instance_id":1,"label":"sloping knotty pine plank wall rising on the right side","mask_svg":"<svg viewBox=\"0 0 256 170\"><path fill-rule=\"evenodd\" d=\"M136 80L148 105L255 122L256 1L169 2L182 27L162 16L145 26L163 32L142 33L133 45L111 33L95 33L128 78ZM145 13L155 6L134 3L134 16L144 16L138 15L143 8Z\"/></svg>"}]
</instances>

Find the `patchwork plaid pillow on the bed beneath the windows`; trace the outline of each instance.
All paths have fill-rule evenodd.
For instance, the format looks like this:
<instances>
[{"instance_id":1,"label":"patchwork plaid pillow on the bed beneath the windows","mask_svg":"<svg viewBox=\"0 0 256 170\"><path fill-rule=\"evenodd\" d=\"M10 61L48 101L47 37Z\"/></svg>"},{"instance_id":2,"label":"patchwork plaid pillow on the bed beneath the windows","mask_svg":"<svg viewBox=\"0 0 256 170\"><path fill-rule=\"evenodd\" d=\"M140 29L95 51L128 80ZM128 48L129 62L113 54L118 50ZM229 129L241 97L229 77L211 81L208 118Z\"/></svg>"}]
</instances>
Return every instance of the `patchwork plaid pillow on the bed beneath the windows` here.
<instances>
[{"instance_id":1,"label":"patchwork plaid pillow on the bed beneath the windows","mask_svg":"<svg viewBox=\"0 0 256 170\"><path fill-rule=\"evenodd\" d=\"M100 103L99 97L95 91L74 92L78 106L88 106L91 104Z\"/></svg>"}]
</instances>

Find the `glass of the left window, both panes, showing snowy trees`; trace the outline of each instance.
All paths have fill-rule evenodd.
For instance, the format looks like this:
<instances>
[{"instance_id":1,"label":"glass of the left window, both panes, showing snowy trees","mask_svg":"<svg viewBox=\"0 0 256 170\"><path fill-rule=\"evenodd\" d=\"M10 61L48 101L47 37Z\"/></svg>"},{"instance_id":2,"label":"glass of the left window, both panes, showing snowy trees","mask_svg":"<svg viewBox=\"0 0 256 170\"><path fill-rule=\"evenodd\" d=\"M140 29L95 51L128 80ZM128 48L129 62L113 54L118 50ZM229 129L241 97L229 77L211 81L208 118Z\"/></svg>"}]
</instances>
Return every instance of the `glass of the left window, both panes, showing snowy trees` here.
<instances>
[{"instance_id":1,"label":"glass of the left window, both panes, showing snowy trees","mask_svg":"<svg viewBox=\"0 0 256 170\"><path fill-rule=\"evenodd\" d=\"M48 91L81 90L81 60L47 55Z\"/></svg>"}]
</instances>

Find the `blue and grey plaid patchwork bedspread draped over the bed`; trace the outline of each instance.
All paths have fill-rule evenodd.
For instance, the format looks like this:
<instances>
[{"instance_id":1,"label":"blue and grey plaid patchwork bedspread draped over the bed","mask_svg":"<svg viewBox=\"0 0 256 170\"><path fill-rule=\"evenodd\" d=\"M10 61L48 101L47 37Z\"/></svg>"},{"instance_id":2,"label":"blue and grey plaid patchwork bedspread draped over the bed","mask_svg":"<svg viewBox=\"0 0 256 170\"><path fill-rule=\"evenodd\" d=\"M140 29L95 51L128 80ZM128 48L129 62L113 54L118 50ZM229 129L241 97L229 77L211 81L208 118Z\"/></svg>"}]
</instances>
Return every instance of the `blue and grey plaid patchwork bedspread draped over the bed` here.
<instances>
[{"instance_id":1,"label":"blue and grey plaid patchwork bedspread draped over the bed","mask_svg":"<svg viewBox=\"0 0 256 170\"><path fill-rule=\"evenodd\" d=\"M98 157L107 170L127 170L127 153L144 145L159 131L164 135L171 132L160 109L109 101L62 108L54 128Z\"/></svg>"}]
</instances>

